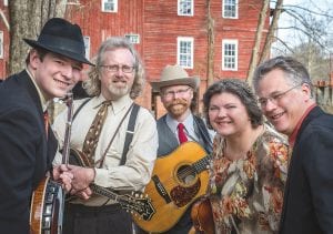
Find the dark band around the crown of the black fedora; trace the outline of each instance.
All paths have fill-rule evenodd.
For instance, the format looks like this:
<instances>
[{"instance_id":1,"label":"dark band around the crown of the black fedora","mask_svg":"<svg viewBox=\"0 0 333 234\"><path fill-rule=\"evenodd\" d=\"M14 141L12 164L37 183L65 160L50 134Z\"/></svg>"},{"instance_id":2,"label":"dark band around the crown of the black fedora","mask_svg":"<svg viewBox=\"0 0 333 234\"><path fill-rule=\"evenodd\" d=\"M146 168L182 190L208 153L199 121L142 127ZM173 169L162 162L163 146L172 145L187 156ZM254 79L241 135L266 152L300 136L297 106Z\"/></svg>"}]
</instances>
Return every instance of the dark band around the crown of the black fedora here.
<instances>
[{"instance_id":1,"label":"dark band around the crown of the black fedora","mask_svg":"<svg viewBox=\"0 0 333 234\"><path fill-rule=\"evenodd\" d=\"M38 42L44 47L47 47L46 44L50 44L48 45L49 48L57 48L72 53L79 52L80 54L82 54L82 57L85 57L85 51L84 48L82 48L82 43L71 39L65 39L57 35L41 34L38 39Z\"/></svg>"}]
</instances>

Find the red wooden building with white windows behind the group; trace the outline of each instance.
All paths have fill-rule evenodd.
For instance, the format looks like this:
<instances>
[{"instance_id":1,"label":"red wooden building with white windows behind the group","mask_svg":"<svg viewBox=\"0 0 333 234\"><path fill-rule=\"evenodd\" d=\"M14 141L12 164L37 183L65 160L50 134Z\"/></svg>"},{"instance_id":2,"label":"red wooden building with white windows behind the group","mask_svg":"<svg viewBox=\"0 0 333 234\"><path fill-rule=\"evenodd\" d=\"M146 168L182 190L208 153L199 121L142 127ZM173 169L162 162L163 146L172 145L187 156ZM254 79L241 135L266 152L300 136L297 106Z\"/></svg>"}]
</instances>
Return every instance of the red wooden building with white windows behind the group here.
<instances>
[{"instance_id":1,"label":"red wooden building with white windows behind the group","mask_svg":"<svg viewBox=\"0 0 333 234\"><path fill-rule=\"evenodd\" d=\"M246 78L262 3L262 0L211 0L215 79ZM206 89L206 0L71 0L65 18L81 26L89 58L108 37L132 40L148 75L147 88L138 102L161 115L163 106L149 81L158 80L164 65L178 63L190 75L200 75L198 101ZM269 18L265 29L268 26ZM6 29L2 21L0 29ZM8 51L6 37L3 41ZM0 59L0 72L4 64L6 57Z\"/></svg>"}]
</instances>

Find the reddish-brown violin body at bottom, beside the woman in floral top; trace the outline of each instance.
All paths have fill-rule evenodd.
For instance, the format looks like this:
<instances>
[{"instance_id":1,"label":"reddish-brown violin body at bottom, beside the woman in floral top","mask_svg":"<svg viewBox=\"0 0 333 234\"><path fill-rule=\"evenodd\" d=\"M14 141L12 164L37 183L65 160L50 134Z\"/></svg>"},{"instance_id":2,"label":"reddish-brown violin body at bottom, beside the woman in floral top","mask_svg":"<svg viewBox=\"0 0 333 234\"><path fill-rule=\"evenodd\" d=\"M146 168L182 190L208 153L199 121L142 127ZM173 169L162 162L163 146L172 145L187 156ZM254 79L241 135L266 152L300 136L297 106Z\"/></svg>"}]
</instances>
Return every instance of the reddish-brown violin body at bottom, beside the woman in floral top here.
<instances>
[{"instance_id":1,"label":"reddish-brown violin body at bottom, beside the woman in floral top","mask_svg":"<svg viewBox=\"0 0 333 234\"><path fill-rule=\"evenodd\" d=\"M213 212L208 197L202 197L192 205L191 218L195 234L215 234Z\"/></svg>"}]
</instances>

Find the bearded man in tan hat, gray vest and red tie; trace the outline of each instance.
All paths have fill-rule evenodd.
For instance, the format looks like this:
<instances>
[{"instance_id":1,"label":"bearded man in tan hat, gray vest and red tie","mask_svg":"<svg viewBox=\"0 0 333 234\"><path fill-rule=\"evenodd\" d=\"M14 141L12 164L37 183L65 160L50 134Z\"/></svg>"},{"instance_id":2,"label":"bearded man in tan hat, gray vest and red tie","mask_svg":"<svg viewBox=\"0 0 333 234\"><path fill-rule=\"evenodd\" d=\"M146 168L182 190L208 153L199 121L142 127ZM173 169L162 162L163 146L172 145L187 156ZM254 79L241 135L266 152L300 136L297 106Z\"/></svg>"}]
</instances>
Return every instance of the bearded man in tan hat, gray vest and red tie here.
<instances>
[{"instance_id":1,"label":"bearded man in tan hat, gray vest and red tie","mask_svg":"<svg viewBox=\"0 0 333 234\"><path fill-rule=\"evenodd\" d=\"M159 150L163 156L174 151L185 141L194 141L204 147L206 153L212 151L212 135L203 120L195 116L191 109L193 98L199 88L200 78L189 77L180 65L167 65L160 81L151 82L152 88L160 92L161 101L168 113L158 120ZM182 133L180 133L182 132ZM191 155L186 155L191 156ZM192 227L191 206L180 221L168 231L168 234L188 233Z\"/></svg>"}]
</instances>

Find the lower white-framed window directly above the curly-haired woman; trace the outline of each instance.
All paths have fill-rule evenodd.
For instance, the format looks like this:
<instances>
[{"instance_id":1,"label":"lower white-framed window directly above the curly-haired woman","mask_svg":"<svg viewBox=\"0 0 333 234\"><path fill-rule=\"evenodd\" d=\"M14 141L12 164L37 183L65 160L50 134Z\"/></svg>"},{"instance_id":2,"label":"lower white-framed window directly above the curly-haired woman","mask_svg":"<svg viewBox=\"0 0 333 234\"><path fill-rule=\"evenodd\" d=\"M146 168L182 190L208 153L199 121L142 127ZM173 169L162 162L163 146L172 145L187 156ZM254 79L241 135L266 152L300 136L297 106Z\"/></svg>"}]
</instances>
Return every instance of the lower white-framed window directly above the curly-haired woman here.
<instances>
[{"instance_id":1,"label":"lower white-framed window directly above the curly-haired woman","mask_svg":"<svg viewBox=\"0 0 333 234\"><path fill-rule=\"evenodd\" d=\"M234 47L232 51L225 50L226 45ZM228 53L228 54L226 54ZM222 40L222 70L238 71L239 70L239 41L225 39Z\"/></svg>"}]
</instances>

